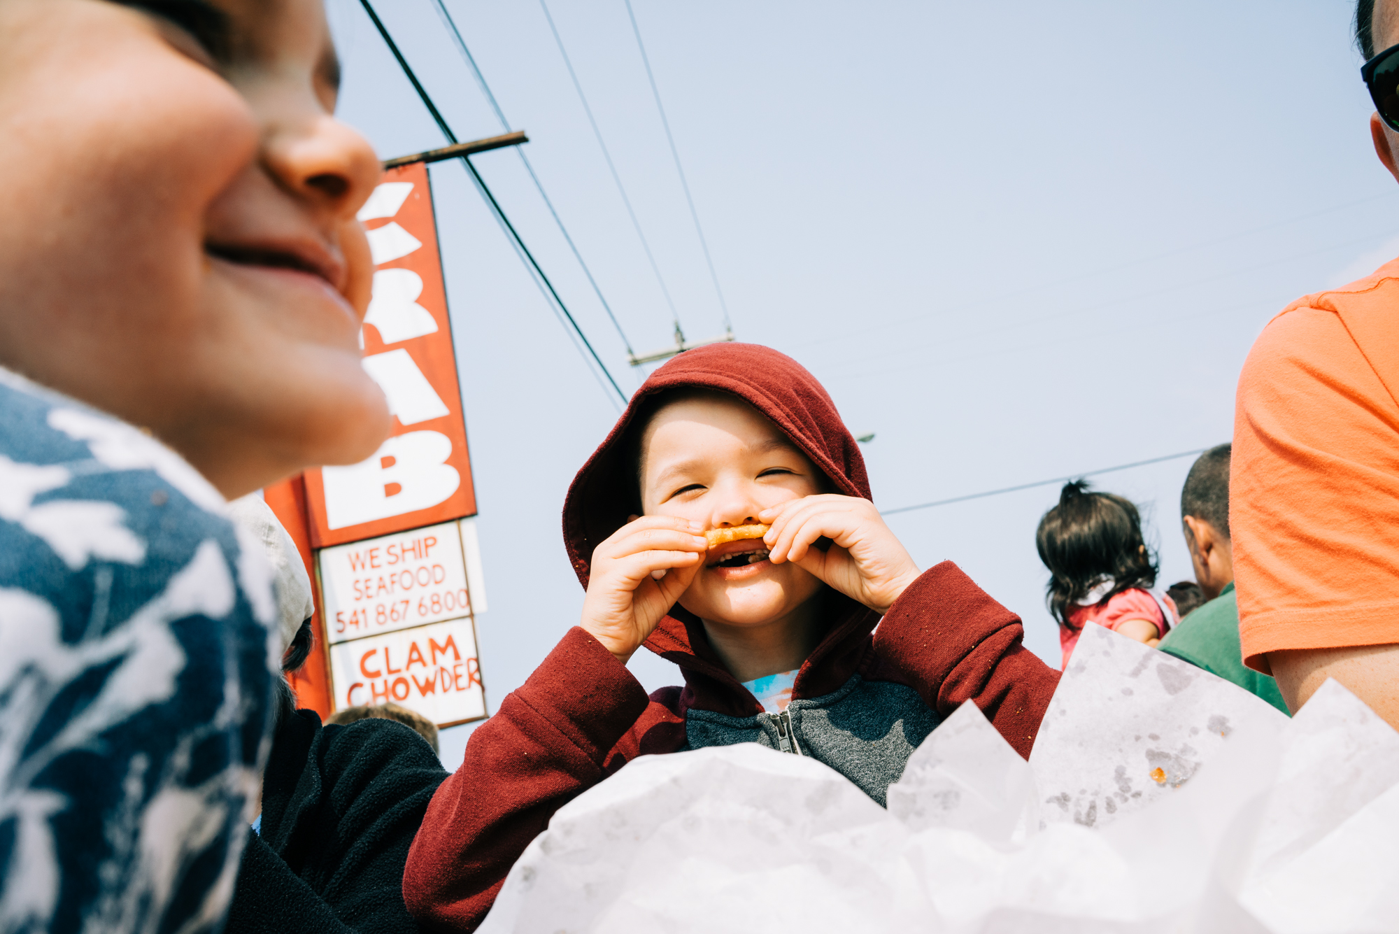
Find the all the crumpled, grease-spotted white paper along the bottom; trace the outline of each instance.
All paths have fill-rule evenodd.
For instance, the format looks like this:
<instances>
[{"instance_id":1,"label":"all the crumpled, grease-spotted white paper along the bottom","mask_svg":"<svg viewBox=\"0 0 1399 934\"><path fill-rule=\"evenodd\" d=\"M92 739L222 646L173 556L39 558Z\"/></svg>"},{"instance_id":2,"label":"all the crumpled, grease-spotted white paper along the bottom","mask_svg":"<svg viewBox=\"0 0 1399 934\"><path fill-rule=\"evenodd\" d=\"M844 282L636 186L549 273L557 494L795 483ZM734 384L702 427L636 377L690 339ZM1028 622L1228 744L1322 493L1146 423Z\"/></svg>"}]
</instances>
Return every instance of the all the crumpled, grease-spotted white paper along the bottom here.
<instances>
[{"instance_id":1,"label":"all the crumpled, grease-spotted white paper along the bottom","mask_svg":"<svg viewBox=\"0 0 1399 934\"><path fill-rule=\"evenodd\" d=\"M1288 720L1178 666L1090 626L1028 763L967 703L888 811L755 744L642 756L554 815L480 930L1399 931L1399 734L1333 681Z\"/></svg>"}]
</instances>

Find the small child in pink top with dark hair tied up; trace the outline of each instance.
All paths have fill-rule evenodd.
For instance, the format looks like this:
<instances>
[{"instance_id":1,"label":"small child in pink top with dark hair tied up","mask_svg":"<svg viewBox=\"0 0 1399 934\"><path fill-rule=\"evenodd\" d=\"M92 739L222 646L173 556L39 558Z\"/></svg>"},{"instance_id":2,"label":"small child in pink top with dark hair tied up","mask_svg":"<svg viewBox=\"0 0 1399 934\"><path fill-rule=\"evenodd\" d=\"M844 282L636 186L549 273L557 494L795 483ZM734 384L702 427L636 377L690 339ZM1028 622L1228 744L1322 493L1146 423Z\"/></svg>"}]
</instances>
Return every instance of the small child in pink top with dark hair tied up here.
<instances>
[{"instance_id":1,"label":"small child in pink top with dark hair tied up","mask_svg":"<svg viewBox=\"0 0 1399 934\"><path fill-rule=\"evenodd\" d=\"M1151 590L1156 555L1129 499L1090 491L1083 480L1065 484L1059 505L1039 520L1035 547L1051 575L1046 600L1065 667L1090 622L1149 646L1178 622L1175 603Z\"/></svg>"}]
</instances>

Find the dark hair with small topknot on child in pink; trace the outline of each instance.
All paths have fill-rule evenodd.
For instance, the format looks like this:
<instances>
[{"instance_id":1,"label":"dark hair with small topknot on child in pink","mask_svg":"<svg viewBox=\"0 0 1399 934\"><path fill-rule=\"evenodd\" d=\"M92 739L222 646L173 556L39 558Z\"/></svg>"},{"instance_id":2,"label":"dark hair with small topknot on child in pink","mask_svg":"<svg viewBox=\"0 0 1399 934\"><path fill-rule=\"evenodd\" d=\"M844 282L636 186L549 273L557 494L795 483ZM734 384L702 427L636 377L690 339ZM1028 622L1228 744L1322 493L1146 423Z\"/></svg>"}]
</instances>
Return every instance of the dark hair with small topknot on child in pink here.
<instances>
[{"instance_id":1,"label":"dark hair with small topknot on child in pink","mask_svg":"<svg viewBox=\"0 0 1399 934\"><path fill-rule=\"evenodd\" d=\"M1104 577L1112 577L1114 584L1102 600L1156 584L1156 552L1142 537L1137 508L1114 494L1090 492L1083 480L1059 491L1059 505L1044 515L1035 530L1035 548L1049 569L1049 612L1070 629L1073 605Z\"/></svg>"}]
</instances>

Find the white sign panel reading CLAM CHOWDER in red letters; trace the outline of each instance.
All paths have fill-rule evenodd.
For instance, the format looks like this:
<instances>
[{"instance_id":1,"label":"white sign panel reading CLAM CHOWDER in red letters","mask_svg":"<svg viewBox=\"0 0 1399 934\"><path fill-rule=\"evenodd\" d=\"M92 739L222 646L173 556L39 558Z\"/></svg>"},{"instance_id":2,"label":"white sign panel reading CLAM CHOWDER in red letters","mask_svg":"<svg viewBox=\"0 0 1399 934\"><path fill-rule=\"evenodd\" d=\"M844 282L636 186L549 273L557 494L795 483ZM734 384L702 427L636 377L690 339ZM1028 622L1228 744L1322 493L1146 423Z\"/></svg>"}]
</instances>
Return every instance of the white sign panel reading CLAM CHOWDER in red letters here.
<instances>
[{"instance_id":1,"label":"white sign panel reading CLAM CHOWDER in red letters","mask_svg":"<svg viewBox=\"0 0 1399 934\"><path fill-rule=\"evenodd\" d=\"M392 700L439 727L485 716L481 666L470 619L330 646L336 710Z\"/></svg>"}]
</instances>

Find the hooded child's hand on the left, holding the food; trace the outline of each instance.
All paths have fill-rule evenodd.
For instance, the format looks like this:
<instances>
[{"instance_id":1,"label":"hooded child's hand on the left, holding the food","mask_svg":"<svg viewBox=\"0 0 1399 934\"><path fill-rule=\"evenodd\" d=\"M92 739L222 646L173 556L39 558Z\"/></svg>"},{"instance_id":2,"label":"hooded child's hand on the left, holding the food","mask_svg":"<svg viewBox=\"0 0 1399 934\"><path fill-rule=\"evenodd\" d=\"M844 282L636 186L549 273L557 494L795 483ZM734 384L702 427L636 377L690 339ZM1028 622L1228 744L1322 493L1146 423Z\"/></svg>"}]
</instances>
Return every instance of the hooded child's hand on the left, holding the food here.
<instances>
[{"instance_id":1,"label":"hooded child's hand on the left, holding the food","mask_svg":"<svg viewBox=\"0 0 1399 934\"><path fill-rule=\"evenodd\" d=\"M702 530L676 516L632 516L593 549L578 625L627 664L704 566Z\"/></svg>"}]
</instances>

